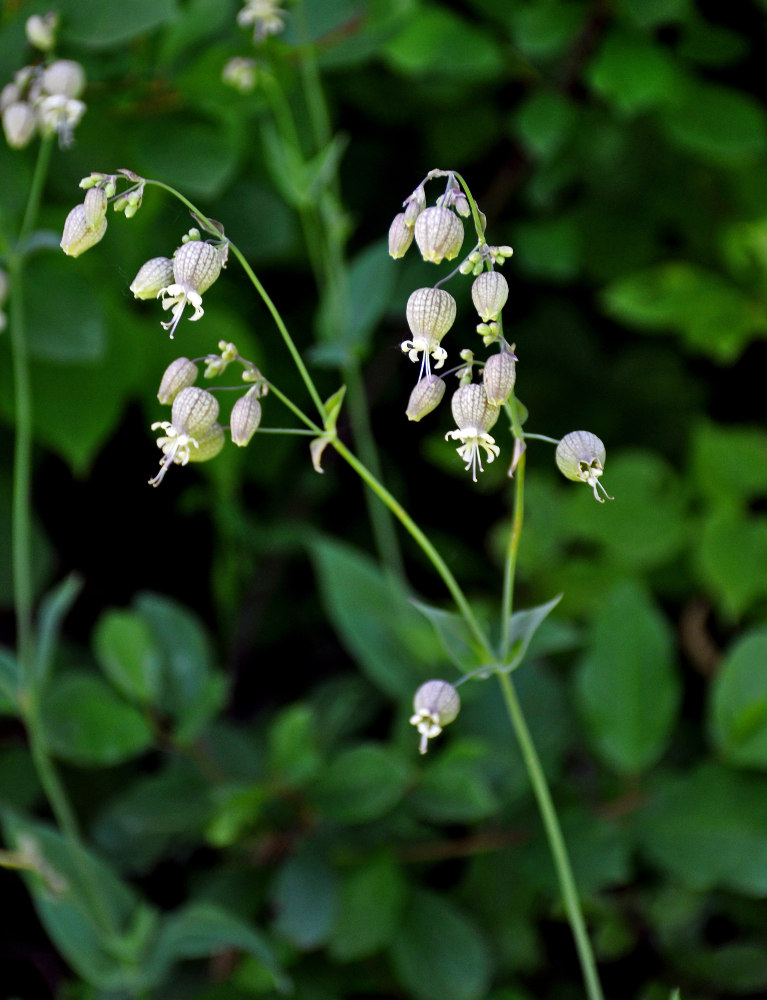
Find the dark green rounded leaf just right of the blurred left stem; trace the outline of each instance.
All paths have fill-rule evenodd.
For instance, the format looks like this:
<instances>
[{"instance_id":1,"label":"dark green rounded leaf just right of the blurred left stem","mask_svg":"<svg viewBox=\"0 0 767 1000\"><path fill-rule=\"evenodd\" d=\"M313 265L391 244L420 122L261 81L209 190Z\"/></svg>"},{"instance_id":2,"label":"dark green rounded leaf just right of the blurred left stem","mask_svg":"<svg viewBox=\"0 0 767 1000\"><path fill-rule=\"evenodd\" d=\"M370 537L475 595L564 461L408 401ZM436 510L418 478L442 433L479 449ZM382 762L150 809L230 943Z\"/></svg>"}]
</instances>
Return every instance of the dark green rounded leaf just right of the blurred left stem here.
<instances>
[{"instance_id":1,"label":"dark green rounded leaf just right of the blurred left stem","mask_svg":"<svg viewBox=\"0 0 767 1000\"><path fill-rule=\"evenodd\" d=\"M41 713L51 750L74 764L119 764L154 742L141 712L90 674L70 673L49 682Z\"/></svg>"}]
</instances>

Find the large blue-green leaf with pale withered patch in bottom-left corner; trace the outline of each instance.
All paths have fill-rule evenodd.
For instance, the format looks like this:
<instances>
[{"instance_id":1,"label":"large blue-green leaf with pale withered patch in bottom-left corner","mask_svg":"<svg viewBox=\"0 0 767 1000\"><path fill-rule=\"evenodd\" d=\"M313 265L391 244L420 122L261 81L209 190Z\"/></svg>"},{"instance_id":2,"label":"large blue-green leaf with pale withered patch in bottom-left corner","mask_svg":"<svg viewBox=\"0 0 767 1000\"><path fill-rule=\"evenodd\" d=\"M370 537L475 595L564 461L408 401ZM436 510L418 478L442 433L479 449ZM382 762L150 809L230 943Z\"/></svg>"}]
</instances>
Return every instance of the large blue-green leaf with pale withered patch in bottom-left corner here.
<instances>
[{"instance_id":1,"label":"large blue-green leaf with pale withered patch in bottom-left corner","mask_svg":"<svg viewBox=\"0 0 767 1000\"><path fill-rule=\"evenodd\" d=\"M99 989L140 992L154 911L93 854L42 824L4 812L3 827L9 847L32 862L22 878L47 934L74 972Z\"/></svg>"}]
</instances>

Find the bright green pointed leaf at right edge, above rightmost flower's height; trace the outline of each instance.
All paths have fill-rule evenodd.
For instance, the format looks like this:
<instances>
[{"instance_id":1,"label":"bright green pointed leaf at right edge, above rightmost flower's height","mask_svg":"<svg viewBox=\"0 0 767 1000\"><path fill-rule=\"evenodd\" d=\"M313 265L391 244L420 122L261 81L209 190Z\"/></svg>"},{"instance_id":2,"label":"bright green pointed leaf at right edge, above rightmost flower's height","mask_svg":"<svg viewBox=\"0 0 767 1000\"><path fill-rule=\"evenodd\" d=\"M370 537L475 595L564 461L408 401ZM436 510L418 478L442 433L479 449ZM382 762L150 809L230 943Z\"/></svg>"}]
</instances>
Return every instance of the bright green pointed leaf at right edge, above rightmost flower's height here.
<instances>
[{"instance_id":1,"label":"bright green pointed leaf at right edge, above rightmost flower's height","mask_svg":"<svg viewBox=\"0 0 767 1000\"><path fill-rule=\"evenodd\" d=\"M686 262L618 278L602 292L608 316L647 330L676 331L688 346L731 361L764 330L764 307L721 275Z\"/></svg>"}]
</instances>

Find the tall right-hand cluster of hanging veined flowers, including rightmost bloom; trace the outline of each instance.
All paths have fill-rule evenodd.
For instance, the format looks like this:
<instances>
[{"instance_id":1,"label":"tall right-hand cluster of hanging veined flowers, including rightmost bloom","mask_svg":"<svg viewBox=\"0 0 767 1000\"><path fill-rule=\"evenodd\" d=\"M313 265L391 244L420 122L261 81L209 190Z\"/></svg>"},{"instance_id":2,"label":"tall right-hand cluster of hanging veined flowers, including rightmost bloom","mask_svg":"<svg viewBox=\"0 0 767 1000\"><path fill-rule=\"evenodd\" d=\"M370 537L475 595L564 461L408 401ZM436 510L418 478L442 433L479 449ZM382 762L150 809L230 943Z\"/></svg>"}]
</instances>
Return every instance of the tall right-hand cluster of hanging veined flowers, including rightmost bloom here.
<instances>
[{"instance_id":1,"label":"tall right-hand cluster of hanging veined flowers, including rightmost bloom","mask_svg":"<svg viewBox=\"0 0 767 1000\"><path fill-rule=\"evenodd\" d=\"M425 185L437 178L447 179L445 189L434 205L427 206ZM476 482L477 473L483 471L482 453L488 463L500 453L490 430L506 409L515 440L509 469L509 475L513 475L525 450L520 416L524 408L515 409L513 393L518 358L515 345L504 337L502 320L509 284L498 270L513 251L509 246L491 246L487 242L485 216L455 171L430 171L408 195L402 208L389 228L389 254L395 259L403 257L415 240L425 261L440 264L443 260L454 260L463 246L464 218L472 219L477 238L476 245L451 274L431 288L417 288L407 301L405 318L410 337L400 346L411 361L420 361L418 380L408 400L407 418L423 419L439 406L445 395L444 377L435 374L432 368L442 368L447 360L442 339L455 322L457 306L453 296L439 286L456 276L472 275L471 301L480 321L476 332L492 353L481 362L475 361L472 350L460 351L463 364L452 370L459 385L450 404L456 428L448 431L445 438L460 442L456 450ZM478 381L474 381L475 369L480 371ZM557 444L551 438L548 440ZM591 486L600 502L612 499L599 482L604 457L602 442L585 431L568 434L558 442L556 462L560 470L569 479ZM603 496L599 495L600 490Z\"/></svg>"}]
</instances>

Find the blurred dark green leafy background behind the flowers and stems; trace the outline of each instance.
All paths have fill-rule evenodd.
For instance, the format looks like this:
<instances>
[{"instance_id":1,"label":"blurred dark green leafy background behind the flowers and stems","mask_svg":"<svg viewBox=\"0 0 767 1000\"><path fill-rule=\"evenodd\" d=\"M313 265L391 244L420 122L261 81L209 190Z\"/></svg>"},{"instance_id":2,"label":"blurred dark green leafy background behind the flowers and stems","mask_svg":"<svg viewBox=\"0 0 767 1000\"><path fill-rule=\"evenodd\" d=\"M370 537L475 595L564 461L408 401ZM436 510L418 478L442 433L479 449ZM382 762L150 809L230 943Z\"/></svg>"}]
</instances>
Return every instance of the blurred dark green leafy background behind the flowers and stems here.
<instances>
[{"instance_id":1,"label":"blurred dark green leafy background behind the flowers and stems","mask_svg":"<svg viewBox=\"0 0 767 1000\"><path fill-rule=\"evenodd\" d=\"M318 476L303 440L257 435L244 453L145 485L155 393L177 352L233 340L277 385L301 389L235 262L204 319L182 320L177 348L159 307L129 295L139 266L190 225L158 189L134 219L110 215L81 259L60 253L80 178L121 167L224 222L325 396L364 371L384 479L489 615L511 486L503 460L469 481L443 440L446 407L408 425L404 304L435 272L393 263L384 240L427 170L468 179L491 241L515 248L505 329L526 426L598 433L616 497L595 504L530 442L517 600L564 596L514 677L606 992L763 995L767 3L304 0L257 51L239 6L57 5L58 54L89 82L75 145L54 151L27 264L35 579L41 599L72 571L82 590L37 682L90 846L73 856L51 826L14 717L6 332L0 816L36 917L3 871L4 995L581 990L495 684L464 685L459 718L425 758L415 752L412 692L457 676L440 641L451 627L440 609L452 609L408 540L410 586L379 568L351 473L329 455ZM24 22L44 10L0 10L5 82L35 58ZM329 143L313 133L309 47ZM240 55L276 89L225 85ZM284 142L280 101L302 156ZM34 162L34 145L0 146L6 239ZM312 274L306 219L323 220L304 210L320 192L344 250L340 313L338 290ZM282 423L276 401L264 411ZM352 439L353 414L339 421ZM51 631L61 602L56 591L42 605Z\"/></svg>"}]
</instances>

